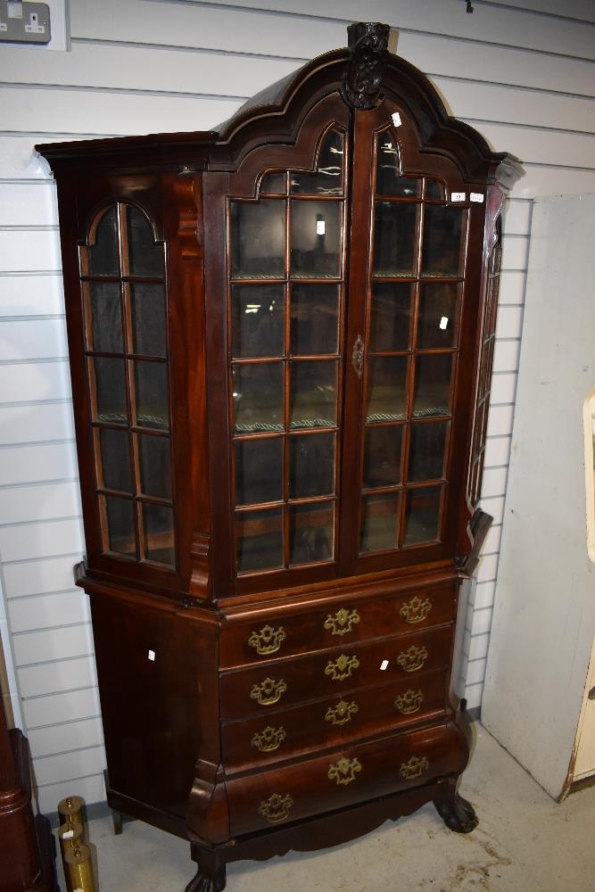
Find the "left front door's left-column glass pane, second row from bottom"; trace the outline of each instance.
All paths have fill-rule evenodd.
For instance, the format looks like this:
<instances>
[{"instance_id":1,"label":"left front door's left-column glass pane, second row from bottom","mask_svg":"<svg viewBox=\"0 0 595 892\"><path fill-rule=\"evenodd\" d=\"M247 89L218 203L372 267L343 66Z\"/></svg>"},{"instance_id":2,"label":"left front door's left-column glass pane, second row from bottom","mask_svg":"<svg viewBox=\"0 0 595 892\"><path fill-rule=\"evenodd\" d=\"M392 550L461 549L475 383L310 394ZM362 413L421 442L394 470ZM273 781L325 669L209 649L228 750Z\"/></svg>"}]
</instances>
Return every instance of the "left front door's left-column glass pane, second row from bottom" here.
<instances>
[{"instance_id":1,"label":"left front door's left-column glass pane, second row from bottom","mask_svg":"<svg viewBox=\"0 0 595 892\"><path fill-rule=\"evenodd\" d=\"M283 499L283 439L236 442L236 505Z\"/></svg>"}]
</instances>

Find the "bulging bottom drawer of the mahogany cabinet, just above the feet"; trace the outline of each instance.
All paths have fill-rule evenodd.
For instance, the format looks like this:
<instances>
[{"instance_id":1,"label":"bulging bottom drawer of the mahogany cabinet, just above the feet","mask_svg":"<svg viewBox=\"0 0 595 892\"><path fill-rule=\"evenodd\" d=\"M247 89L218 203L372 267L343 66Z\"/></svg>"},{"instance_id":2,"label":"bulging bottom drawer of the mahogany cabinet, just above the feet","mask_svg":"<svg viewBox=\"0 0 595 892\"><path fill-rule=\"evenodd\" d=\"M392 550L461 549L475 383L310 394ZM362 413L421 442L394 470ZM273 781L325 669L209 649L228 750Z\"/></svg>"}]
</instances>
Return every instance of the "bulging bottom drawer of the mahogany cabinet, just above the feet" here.
<instances>
[{"instance_id":1,"label":"bulging bottom drawer of the mahogany cabinet, just above the feet","mask_svg":"<svg viewBox=\"0 0 595 892\"><path fill-rule=\"evenodd\" d=\"M230 833L266 830L332 812L459 773L466 764L462 733L454 724L442 724L231 778Z\"/></svg>"}]
</instances>

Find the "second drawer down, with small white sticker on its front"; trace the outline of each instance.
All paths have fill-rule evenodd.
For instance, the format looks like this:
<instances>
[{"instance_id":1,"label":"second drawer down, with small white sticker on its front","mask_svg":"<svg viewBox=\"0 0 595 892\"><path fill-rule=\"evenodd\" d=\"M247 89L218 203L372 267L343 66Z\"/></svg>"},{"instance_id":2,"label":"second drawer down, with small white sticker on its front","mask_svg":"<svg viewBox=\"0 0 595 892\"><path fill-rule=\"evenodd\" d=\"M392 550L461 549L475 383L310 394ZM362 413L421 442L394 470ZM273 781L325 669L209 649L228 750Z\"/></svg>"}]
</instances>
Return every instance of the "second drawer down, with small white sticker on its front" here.
<instances>
[{"instance_id":1,"label":"second drawer down, with small white sticker on its front","mask_svg":"<svg viewBox=\"0 0 595 892\"><path fill-rule=\"evenodd\" d=\"M342 694L442 669L450 659L452 626L335 648L309 657L220 674L221 716L267 713L273 706ZM385 665L382 669L381 666Z\"/></svg>"}]
</instances>

